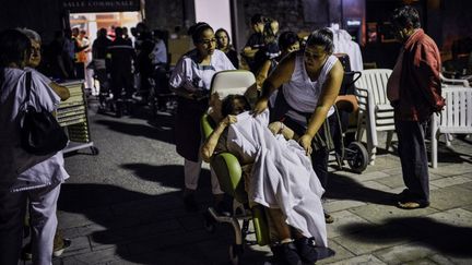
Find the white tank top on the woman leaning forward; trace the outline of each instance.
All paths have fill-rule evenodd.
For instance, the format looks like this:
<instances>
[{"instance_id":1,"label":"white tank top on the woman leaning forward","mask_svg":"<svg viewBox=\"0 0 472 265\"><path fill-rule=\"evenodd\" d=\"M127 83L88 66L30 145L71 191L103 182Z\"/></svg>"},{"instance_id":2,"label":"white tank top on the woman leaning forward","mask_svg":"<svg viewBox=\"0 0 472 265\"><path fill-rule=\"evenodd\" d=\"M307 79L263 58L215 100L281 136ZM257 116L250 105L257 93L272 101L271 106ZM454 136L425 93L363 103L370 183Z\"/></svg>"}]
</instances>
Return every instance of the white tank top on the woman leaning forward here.
<instances>
[{"instance_id":1,"label":"white tank top on the woman leaning forward","mask_svg":"<svg viewBox=\"0 0 472 265\"><path fill-rule=\"evenodd\" d=\"M291 81L282 86L287 104L297 111L314 112L318 105L318 99L321 95L321 89L328 73L337 61L338 58L335 56L329 56L321 69L318 80L311 81L305 69L304 55L299 52L295 58L295 69L292 73ZM334 108L331 107L328 117L333 112ZM306 118L304 116L293 110L290 110L286 116L306 125Z\"/></svg>"}]
</instances>

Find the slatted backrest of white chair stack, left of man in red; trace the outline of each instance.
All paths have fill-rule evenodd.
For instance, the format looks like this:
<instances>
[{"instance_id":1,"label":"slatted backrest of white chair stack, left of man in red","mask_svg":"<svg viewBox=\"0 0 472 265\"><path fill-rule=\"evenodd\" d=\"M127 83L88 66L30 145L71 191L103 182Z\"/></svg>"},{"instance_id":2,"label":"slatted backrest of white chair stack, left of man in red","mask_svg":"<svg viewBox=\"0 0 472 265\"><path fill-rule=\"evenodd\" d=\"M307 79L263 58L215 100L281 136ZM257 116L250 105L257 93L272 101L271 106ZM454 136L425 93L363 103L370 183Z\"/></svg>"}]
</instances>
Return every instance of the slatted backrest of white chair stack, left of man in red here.
<instances>
[{"instance_id":1,"label":"slatted backrest of white chair stack, left of man in red","mask_svg":"<svg viewBox=\"0 0 472 265\"><path fill-rule=\"evenodd\" d=\"M358 79L354 85L356 87L368 89L369 97L373 97L373 103L375 105L390 105L387 98L387 82L392 70L367 69L361 72L361 79Z\"/></svg>"}]
</instances>

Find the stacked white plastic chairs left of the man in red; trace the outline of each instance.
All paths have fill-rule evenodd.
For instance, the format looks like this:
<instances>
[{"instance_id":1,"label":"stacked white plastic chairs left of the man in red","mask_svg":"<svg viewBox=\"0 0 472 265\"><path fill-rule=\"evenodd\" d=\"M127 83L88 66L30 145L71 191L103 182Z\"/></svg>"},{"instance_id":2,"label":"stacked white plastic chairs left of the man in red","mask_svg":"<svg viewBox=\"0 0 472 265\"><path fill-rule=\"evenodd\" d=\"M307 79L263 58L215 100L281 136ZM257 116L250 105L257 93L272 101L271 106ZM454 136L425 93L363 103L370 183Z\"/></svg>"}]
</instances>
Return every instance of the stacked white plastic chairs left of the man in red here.
<instances>
[{"instance_id":1,"label":"stacked white plastic chairs left of the man in red","mask_svg":"<svg viewBox=\"0 0 472 265\"><path fill-rule=\"evenodd\" d=\"M361 72L361 79L355 82L355 95L359 105L357 141L362 141L364 130L367 131L369 164L374 165L378 146L377 132L388 132L387 149L394 132L393 108L387 98L387 82L392 70L368 69Z\"/></svg>"}]
</instances>

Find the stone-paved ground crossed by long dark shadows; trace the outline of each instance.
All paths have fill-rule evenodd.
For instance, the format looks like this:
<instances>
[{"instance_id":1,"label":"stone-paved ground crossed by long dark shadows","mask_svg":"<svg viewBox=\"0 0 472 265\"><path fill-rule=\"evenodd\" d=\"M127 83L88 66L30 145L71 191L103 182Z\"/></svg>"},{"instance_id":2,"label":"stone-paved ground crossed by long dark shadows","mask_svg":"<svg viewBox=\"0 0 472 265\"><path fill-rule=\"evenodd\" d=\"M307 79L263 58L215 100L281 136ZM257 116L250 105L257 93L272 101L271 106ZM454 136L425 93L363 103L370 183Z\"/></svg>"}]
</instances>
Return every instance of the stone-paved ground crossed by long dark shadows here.
<instances>
[{"instance_id":1,"label":"stone-paved ground crossed by long dark shadows","mask_svg":"<svg viewBox=\"0 0 472 265\"><path fill-rule=\"evenodd\" d=\"M182 159L167 130L172 117L116 119L95 109L90 125L99 155L81 149L66 158L71 178L58 217L72 246L54 264L229 264L232 229L209 233L201 214L184 209ZM472 140L439 146L430 207L417 210L391 206L391 195L403 190L393 152L380 148L362 174L331 169L326 207L335 219L328 237L337 254L318 264L472 264ZM205 168L202 206L211 203ZM270 261L269 248L251 245L240 264Z\"/></svg>"}]
</instances>

